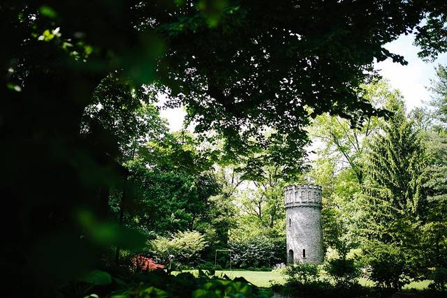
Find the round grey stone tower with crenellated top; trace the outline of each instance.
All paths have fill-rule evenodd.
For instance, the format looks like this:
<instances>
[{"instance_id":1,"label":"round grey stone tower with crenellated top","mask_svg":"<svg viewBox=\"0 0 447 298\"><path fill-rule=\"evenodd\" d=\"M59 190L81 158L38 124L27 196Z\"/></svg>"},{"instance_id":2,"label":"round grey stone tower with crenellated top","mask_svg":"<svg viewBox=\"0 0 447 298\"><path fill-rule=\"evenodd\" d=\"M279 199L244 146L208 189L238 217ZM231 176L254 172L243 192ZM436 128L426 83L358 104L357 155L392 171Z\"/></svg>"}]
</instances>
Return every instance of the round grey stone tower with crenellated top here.
<instances>
[{"instance_id":1,"label":"round grey stone tower with crenellated top","mask_svg":"<svg viewBox=\"0 0 447 298\"><path fill-rule=\"evenodd\" d=\"M287 263L322 263L321 186L286 186Z\"/></svg>"}]
</instances>

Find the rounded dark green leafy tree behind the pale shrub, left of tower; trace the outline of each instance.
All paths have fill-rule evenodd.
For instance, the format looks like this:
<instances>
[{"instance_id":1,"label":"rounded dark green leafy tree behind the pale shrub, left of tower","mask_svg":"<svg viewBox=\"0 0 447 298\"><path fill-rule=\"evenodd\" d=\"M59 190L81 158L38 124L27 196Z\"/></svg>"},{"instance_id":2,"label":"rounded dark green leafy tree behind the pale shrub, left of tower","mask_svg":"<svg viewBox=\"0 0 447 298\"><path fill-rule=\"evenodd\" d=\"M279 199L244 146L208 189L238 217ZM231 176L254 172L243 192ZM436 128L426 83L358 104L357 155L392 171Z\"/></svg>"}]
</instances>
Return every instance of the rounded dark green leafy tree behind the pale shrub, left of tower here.
<instances>
[{"instance_id":1,"label":"rounded dark green leafy tree behind the pale shrub, left of tower","mask_svg":"<svg viewBox=\"0 0 447 298\"><path fill-rule=\"evenodd\" d=\"M179 137L183 137L183 140ZM128 223L156 234L193 230L200 221L210 221L210 198L219 182L210 170L212 154L196 147L191 135L166 133L147 142L129 161Z\"/></svg>"}]
</instances>

